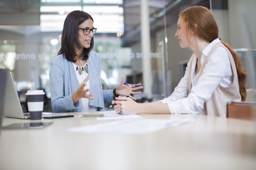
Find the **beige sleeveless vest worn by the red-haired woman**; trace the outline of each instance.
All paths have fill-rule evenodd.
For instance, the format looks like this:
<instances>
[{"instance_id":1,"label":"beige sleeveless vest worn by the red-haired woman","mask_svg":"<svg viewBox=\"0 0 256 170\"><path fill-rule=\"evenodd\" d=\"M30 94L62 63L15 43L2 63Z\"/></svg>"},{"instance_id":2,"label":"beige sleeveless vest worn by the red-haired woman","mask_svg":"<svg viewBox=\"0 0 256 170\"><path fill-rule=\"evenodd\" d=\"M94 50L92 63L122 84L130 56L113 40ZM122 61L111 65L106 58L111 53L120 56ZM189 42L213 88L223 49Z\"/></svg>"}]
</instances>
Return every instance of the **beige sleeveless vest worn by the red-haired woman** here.
<instances>
[{"instance_id":1,"label":"beige sleeveless vest worn by the red-haired woman","mask_svg":"<svg viewBox=\"0 0 256 170\"><path fill-rule=\"evenodd\" d=\"M238 77L237 77L237 69L235 67L234 59L229 52L229 50L226 48L225 45L223 45L221 42L217 43L213 49L209 52L208 56L206 57L204 63L202 64L202 67L199 71L199 76L202 75L203 69L208 62L209 57L213 53L213 51L218 47L224 47L226 51L228 52L229 60L231 63L231 69L234 75L234 80L231 86L229 87L221 87L220 85L217 86L215 91L213 92L213 95L211 98L204 103L204 108L202 109L202 112L199 114L203 115L209 115L209 116L219 116L226 118L227 117L227 103L230 101L241 101L241 95L239 93L239 84L238 84ZM193 55L194 57L194 55ZM193 61L193 59L192 59ZM192 67L192 62L190 64L190 68ZM191 72L190 72L191 73ZM191 74L190 74L191 75ZM189 76L189 86L188 86L188 93L190 93L191 89L191 76Z\"/></svg>"}]
</instances>

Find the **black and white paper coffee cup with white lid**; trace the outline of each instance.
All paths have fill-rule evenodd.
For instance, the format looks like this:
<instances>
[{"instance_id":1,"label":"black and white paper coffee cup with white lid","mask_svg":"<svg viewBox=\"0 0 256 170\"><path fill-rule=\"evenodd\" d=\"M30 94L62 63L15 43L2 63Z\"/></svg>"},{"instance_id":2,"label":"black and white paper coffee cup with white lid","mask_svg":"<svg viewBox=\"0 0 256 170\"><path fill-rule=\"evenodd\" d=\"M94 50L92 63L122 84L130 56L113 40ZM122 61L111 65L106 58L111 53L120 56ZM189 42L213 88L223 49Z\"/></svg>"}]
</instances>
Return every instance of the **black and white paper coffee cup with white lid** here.
<instances>
[{"instance_id":1,"label":"black and white paper coffee cup with white lid","mask_svg":"<svg viewBox=\"0 0 256 170\"><path fill-rule=\"evenodd\" d=\"M28 111L31 120L42 119L43 111L43 96L45 93L43 90L28 90L26 93Z\"/></svg>"}]
</instances>

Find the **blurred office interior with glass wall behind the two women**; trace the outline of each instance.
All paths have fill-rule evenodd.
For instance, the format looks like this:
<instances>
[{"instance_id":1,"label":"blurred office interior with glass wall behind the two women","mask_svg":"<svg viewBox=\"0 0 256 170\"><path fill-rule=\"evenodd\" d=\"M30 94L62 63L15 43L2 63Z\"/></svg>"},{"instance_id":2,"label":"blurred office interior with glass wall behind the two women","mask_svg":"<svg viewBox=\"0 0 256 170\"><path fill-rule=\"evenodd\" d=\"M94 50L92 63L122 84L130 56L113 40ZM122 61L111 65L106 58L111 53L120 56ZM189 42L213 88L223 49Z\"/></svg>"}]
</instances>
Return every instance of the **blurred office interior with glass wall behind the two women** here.
<instances>
[{"instance_id":1,"label":"blurred office interior with glass wall behind the two women","mask_svg":"<svg viewBox=\"0 0 256 170\"><path fill-rule=\"evenodd\" d=\"M160 100L178 85L192 55L174 34L179 11L194 5L213 13L219 37L241 57L248 88L255 88L255 0L0 0L0 68L12 72L21 103L28 89L43 89L44 111L51 111L50 63L66 16L82 10L97 28L93 51L101 56L103 88L117 87L124 76L144 86L138 102Z\"/></svg>"}]
</instances>

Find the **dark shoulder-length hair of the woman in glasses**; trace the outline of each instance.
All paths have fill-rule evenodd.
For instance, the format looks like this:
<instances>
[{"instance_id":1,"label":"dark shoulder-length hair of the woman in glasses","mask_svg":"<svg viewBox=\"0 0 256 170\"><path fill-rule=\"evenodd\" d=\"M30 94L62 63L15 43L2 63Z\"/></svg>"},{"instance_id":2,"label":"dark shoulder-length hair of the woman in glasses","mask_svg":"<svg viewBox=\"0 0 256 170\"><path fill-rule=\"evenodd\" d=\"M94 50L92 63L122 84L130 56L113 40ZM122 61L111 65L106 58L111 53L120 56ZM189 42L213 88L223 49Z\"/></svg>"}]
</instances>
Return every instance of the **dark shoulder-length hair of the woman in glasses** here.
<instances>
[{"instance_id":1,"label":"dark shoulder-length hair of the woman in glasses","mask_svg":"<svg viewBox=\"0 0 256 170\"><path fill-rule=\"evenodd\" d=\"M78 42L78 25L85 22L87 19L92 19L92 16L83 11L72 11L68 14L64 21L61 37L61 48L58 55L64 54L66 59L71 62L76 62L77 55L76 50L80 48ZM83 48L81 56L84 60L88 59L89 52L93 49L93 37L89 48Z\"/></svg>"}]
</instances>

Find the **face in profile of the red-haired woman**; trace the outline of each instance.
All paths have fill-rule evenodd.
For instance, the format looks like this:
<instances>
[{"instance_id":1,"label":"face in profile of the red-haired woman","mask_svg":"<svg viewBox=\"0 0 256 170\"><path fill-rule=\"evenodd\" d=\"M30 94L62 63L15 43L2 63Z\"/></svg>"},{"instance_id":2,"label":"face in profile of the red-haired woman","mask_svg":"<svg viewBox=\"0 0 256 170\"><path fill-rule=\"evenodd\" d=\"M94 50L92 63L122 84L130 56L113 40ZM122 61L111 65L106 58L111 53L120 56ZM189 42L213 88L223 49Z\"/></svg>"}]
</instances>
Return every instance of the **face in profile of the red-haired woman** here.
<instances>
[{"instance_id":1,"label":"face in profile of the red-haired woman","mask_svg":"<svg viewBox=\"0 0 256 170\"><path fill-rule=\"evenodd\" d=\"M186 24L181 18L179 18L177 26L178 26L178 30L175 33L175 37L178 38L180 47L181 48L190 47L190 43L188 42L188 39L187 39Z\"/></svg>"}]
</instances>

